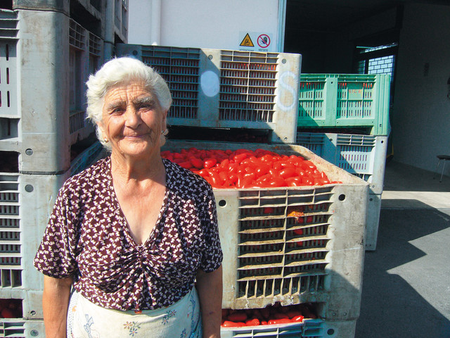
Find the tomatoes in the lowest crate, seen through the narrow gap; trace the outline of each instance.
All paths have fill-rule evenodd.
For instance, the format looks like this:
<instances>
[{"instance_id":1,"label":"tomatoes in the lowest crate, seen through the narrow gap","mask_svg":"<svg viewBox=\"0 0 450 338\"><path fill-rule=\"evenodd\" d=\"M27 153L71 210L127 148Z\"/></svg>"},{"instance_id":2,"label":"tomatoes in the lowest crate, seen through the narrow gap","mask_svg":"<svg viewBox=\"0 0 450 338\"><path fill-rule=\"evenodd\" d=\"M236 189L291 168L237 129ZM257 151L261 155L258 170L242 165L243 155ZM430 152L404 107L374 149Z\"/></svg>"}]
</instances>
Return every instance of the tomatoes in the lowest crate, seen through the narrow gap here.
<instances>
[{"instance_id":1,"label":"tomatoes in the lowest crate, seen through the narrow gap","mask_svg":"<svg viewBox=\"0 0 450 338\"><path fill-rule=\"evenodd\" d=\"M287 323L302 323L304 318L317 318L311 304L302 303L291 306L281 306L275 303L266 308L245 310L222 310L222 327L244 327L259 325L274 325Z\"/></svg>"}]
</instances>

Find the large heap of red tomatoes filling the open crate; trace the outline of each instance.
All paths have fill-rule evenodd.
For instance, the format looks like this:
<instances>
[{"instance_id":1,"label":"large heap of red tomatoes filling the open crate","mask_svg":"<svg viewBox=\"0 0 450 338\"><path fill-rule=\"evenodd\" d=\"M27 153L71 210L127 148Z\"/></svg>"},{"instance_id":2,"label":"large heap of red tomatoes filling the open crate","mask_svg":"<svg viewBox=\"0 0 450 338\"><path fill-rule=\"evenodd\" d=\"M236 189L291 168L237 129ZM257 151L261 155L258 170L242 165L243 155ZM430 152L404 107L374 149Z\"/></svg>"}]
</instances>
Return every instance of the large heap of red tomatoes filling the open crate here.
<instances>
[{"instance_id":1,"label":"large heap of red tomatoes filling the open crate","mask_svg":"<svg viewBox=\"0 0 450 338\"><path fill-rule=\"evenodd\" d=\"M215 189L301 187L331 182L302 156L280 155L265 149L181 149L162 151L162 158L202 176Z\"/></svg>"}]
</instances>

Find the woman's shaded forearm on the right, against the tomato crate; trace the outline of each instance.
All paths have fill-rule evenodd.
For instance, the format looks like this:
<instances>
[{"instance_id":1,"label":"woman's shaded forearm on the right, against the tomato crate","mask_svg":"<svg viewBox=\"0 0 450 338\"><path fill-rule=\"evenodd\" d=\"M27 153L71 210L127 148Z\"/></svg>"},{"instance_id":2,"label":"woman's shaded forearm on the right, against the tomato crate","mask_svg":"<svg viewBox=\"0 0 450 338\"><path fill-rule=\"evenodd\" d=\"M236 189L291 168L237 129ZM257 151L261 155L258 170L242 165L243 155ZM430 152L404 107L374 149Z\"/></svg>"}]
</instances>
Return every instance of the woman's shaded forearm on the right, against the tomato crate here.
<instances>
[{"instance_id":1,"label":"woman's shaded forearm on the right, against the tomato crate","mask_svg":"<svg viewBox=\"0 0 450 338\"><path fill-rule=\"evenodd\" d=\"M222 267L212 273L198 270L197 291L203 320L203 338L219 338L222 309Z\"/></svg>"}]
</instances>

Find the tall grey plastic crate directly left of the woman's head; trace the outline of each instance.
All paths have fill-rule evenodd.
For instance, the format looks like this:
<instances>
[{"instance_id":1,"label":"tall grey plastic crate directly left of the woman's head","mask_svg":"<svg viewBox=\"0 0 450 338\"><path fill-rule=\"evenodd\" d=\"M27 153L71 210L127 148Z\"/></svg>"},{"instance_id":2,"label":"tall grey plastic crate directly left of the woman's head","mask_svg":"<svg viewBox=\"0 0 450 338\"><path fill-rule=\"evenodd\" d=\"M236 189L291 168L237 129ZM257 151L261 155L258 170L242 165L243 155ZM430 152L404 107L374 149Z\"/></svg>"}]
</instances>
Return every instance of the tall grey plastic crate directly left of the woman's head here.
<instances>
[{"instance_id":1,"label":"tall grey plastic crate directly left of the woman's head","mask_svg":"<svg viewBox=\"0 0 450 338\"><path fill-rule=\"evenodd\" d=\"M103 40L64 13L0 10L0 151L20 153L21 172L68 170L94 132L84 82L101 63Z\"/></svg>"}]
</instances>

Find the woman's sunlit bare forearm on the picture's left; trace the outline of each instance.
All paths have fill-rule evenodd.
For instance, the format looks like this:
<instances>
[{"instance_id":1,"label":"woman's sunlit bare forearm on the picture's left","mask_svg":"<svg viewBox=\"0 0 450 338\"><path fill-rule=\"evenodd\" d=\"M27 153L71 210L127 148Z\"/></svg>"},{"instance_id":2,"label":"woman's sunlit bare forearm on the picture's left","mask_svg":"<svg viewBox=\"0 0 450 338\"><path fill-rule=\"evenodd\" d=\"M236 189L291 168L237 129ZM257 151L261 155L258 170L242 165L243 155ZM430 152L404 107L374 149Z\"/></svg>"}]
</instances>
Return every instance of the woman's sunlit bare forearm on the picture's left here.
<instances>
[{"instance_id":1,"label":"woman's sunlit bare forearm on the picture's left","mask_svg":"<svg viewBox=\"0 0 450 338\"><path fill-rule=\"evenodd\" d=\"M72 282L72 277L58 279L44 275L42 309L47 338L66 338L66 320Z\"/></svg>"}]
</instances>

